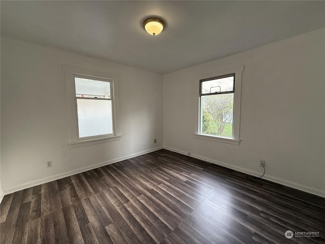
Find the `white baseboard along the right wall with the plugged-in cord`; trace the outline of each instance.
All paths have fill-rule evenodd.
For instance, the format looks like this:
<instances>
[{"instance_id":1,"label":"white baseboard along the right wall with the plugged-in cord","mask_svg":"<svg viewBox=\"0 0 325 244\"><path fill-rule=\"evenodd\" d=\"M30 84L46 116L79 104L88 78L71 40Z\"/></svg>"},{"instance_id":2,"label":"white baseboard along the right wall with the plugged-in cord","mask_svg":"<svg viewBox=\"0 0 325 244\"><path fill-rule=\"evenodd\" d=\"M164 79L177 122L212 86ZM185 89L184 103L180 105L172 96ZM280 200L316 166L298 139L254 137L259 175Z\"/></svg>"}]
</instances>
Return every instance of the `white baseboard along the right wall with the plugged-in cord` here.
<instances>
[{"instance_id":1,"label":"white baseboard along the right wall with the plugged-in cord","mask_svg":"<svg viewBox=\"0 0 325 244\"><path fill-rule=\"evenodd\" d=\"M167 149L167 150L170 150L170 151L175 151L175 153L179 153L179 154L183 154L183 155L188 156L187 151L178 150L178 149L168 147L168 146L164 146L164 148ZM214 160L214 159L209 159L209 158L206 158L206 157L203 157L203 156L200 156L200 155L190 154L189 157L200 159L200 160L212 163L212 164L220 165L220 166L223 166L223 167L226 167L226 168L229 168L229 169L233 169L233 170L245 173L245 174L249 174L249 175L253 175L253 176L257 176L257 177L261 175L260 172L256 172L256 171L248 170L248 169L241 168L241 167L238 167L238 166L234 166L234 165L231 165L231 164L223 163L223 162L220 162L220 161L217 161L217 160ZM285 180L285 179L280 179L280 178L274 177L272 175L265 174L263 176L263 179L270 180L272 182L281 184L281 185L286 186L286 187L291 187L291 188L294 188L294 189L297 189L297 190L300 190L300 191L303 191L303 192L311 193L313 195L317 195L317 196L320 196L320 197L325 197L325 192L322 192L322 191L320 191L318 189L306 187L306 186L297 184L295 182L291 182L291 181L288 181L288 180Z\"/></svg>"}]
</instances>

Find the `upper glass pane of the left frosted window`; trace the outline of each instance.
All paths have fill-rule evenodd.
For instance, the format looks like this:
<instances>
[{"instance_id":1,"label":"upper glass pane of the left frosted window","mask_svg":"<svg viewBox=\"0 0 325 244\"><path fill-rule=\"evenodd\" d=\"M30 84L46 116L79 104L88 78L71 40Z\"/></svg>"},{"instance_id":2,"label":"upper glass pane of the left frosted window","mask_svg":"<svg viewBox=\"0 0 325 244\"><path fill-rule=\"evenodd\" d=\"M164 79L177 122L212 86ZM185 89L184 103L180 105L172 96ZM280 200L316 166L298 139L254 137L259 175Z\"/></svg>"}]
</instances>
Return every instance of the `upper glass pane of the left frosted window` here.
<instances>
[{"instance_id":1,"label":"upper glass pane of the left frosted window","mask_svg":"<svg viewBox=\"0 0 325 244\"><path fill-rule=\"evenodd\" d=\"M75 77L76 97L111 98L109 81L91 80Z\"/></svg>"}]
</instances>

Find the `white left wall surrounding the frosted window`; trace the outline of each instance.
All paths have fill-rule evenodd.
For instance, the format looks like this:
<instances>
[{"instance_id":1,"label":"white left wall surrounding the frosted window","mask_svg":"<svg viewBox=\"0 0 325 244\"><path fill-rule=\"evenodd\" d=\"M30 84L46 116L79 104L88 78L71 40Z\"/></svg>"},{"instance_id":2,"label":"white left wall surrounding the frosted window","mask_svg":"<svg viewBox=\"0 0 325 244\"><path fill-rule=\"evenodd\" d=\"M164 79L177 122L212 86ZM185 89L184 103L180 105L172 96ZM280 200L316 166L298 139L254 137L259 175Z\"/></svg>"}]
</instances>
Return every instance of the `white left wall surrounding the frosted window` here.
<instances>
[{"instance_id":1,"label":"white left wall surrounding the frosted window","mask_svg":"<svg viewBox=\"0 0 325 244\"><path fill-rule=\"evenodd\" d=\"M3 37L1 65L1 180L5 194L163 145L159 74ZM62 65L120 76L120 140L69 147ZM48 160L52 160L51 168L45 167Z\"/></svg>"}]
</instances>

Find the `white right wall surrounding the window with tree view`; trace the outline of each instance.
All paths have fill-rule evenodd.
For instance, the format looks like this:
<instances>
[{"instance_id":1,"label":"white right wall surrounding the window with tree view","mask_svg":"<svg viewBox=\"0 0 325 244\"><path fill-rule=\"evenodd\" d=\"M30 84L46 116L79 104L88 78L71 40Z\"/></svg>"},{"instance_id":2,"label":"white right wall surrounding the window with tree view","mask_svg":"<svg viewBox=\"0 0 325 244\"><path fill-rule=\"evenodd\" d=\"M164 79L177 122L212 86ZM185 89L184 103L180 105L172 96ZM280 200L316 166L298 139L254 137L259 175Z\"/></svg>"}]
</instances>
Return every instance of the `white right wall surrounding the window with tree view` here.
<instances>
[{"instance_id":1,"label":"white right wall surrounding the window with tree view","mask_svg":"<svg viewBox=\"0 0 325 244\"><path fill-rule=\"evenodd\" d=\"M325 29L163 76L164 146L325 196ZM197 75L244 65L240 145L193 137Z\"/></svg>"}]
</instances>

